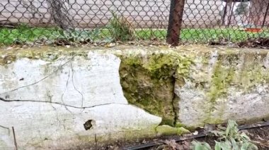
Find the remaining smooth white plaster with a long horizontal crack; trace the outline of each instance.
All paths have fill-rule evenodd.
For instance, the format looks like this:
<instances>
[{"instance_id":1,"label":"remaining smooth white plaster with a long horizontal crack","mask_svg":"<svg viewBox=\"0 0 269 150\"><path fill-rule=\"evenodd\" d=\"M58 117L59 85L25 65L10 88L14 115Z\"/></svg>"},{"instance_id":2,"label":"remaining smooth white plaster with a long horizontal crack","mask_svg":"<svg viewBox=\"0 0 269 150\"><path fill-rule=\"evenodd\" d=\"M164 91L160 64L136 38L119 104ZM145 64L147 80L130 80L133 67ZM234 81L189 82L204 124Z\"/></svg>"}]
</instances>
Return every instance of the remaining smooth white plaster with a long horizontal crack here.
<instances>
[{"instance_id":1,"label":"remaining smooth white plaster with a long horizontal crack","mask_svg":"<svg viewBox=\"0 0 269 150\"><path fill-rule=\"evenodd\" d=\"M95 52L0 65L1 149L14 145L11 127L21 149L64 149L132 132L153 136L161 118L128 104L119 66L115 55Z\"/></svg>"}]
</instances>

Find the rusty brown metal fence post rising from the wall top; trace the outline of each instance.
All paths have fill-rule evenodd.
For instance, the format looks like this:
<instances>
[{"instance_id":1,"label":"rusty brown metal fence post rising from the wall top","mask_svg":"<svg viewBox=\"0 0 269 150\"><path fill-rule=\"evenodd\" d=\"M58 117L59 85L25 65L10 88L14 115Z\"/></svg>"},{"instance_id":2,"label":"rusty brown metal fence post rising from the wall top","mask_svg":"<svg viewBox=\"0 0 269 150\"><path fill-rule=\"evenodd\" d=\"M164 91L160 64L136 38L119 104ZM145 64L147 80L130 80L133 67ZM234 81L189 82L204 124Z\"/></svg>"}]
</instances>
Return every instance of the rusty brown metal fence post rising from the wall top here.
<instances>
[{"instance_id":1,"label":"rusty brown metal fence post rising from the wall top","mask_svg":"<svg viewBox=\"0 0 269 150\"><path fill-rule=\"evenodd\" d=\"M177 46L181 35L185 0L171 0L166 42Z\"/></svg>"}]
</instances>

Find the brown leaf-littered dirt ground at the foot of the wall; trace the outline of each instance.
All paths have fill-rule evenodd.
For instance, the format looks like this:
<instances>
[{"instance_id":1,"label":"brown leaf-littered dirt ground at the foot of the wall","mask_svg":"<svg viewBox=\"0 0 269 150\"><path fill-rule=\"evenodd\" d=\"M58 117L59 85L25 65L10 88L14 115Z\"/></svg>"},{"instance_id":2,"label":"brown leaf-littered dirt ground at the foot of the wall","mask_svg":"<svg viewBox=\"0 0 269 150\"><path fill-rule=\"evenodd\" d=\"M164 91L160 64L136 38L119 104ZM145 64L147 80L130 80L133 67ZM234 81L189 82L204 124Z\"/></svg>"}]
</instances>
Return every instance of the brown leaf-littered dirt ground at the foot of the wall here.
<instances>
[{"instance_id":1,"label":"brown leaf-littered dirt ground at the foot of the wall","mask_svg":"<svg viewBox=\"0 0 269 150\"><path fill-rule=\"evenodd\" d=\"M258 146L258 149L261 150L269 150L269 126L266 127L257 127L248 130L241 130L241 132L245 132L248 137L251 138L253 144ZM125 142L125 143L116 143L108 146L95 146L88 149L102 149L102 150L120 150L120 149L141 149L141 150L188 150L190 149L190 142L194 139L188 139L183 142L175 142L174 139L178 139L179 136L170 136L170 137L159 137L158 139L144 139L142 141L135 142ZM207 142L211 147L214 148L214 140L217 140L217 137L200 137L195 138L195 140L199 142ZM158 145L150 146L147 148L139 148L138 146L142 146L143 144L151 144L155 143ZM173 146L177 147L173 149ZM86 149L85 149L86 150Z\"/></svg>"}]
</instances>

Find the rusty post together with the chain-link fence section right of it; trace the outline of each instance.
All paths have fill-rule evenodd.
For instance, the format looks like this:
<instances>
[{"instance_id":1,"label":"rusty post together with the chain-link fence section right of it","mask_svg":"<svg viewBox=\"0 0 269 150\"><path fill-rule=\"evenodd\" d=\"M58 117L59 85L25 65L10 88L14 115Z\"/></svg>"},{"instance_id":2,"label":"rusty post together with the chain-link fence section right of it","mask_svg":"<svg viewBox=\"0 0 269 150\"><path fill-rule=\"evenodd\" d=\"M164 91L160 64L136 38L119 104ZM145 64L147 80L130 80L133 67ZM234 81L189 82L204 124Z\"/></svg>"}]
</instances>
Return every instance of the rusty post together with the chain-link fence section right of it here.
<instances>
[{"instance_id":1,"label":"rusty post together with the chain-link fence section right of it","mask_svg":"<svg viewBox=\"0 0 269 150\"><path fill-rule=\"evenodd\" d=\"M170 44L177 45L180 38L182 42L269 46L268 0L171 0L171 10Z\"/></svg>"}]
</instances>

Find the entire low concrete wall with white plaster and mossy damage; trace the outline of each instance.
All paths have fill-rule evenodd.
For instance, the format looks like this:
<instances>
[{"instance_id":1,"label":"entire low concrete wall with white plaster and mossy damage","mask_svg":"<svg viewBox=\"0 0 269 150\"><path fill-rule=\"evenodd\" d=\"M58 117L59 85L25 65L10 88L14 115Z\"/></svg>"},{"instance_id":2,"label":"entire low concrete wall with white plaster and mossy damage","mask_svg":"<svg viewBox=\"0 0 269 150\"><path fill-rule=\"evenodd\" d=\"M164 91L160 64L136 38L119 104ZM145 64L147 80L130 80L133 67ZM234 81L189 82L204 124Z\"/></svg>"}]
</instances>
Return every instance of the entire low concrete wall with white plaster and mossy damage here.
<instances>
[{"instance_id":1,"label":"entire low concrete wall with white plaster and mossy damage","mask_svg":"<svg viewBox=\"0 0 269 150\"><path fill-rule=\"evenodd\" d=\"M13 146L12 126L19 146L42 149L269 117L266 50L45 47L0 56L2 147Z\"/></svg>"}]
</instances>

